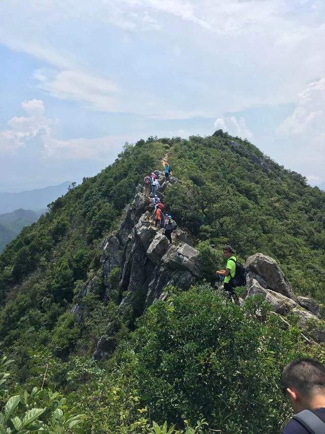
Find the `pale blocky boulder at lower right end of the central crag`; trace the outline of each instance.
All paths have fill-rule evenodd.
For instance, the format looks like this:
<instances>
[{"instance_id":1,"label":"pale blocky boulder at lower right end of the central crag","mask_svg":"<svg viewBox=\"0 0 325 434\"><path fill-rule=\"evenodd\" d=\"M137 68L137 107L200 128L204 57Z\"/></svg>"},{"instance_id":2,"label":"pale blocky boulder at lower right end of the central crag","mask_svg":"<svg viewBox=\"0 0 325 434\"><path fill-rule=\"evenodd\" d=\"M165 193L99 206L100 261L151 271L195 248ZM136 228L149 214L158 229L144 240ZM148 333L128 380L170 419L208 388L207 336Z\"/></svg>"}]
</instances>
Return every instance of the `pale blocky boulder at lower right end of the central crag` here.
<instances>
[{"instance_id":1,"label":"pale blocky boulder at lower right end of the central crag","mask_svg":"<svg viewBox=\"0 0 325 434\"><path fill-rule=\"evenodd\" d=\"M203 263L200 253L188 244L171 245L162 262L171 269L187 269L196 277L203 277Z\"/></svg>"}]
</instances>

